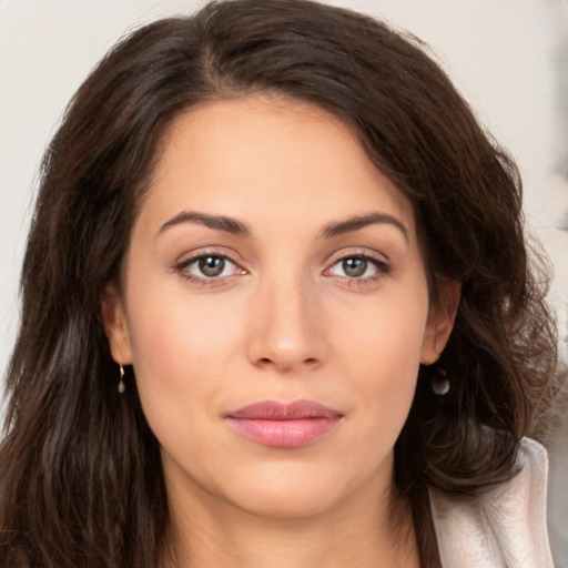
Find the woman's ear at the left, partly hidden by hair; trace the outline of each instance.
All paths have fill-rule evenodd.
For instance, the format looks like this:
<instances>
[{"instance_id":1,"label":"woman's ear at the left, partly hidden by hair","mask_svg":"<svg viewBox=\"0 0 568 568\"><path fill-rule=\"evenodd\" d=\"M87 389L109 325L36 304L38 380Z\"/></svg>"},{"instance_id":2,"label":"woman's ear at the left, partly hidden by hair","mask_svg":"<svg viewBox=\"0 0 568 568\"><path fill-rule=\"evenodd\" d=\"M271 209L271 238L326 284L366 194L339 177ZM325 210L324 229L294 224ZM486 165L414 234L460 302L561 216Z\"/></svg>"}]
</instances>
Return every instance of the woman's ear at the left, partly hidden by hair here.
<instances>
[{"instance_id":1,"label":"woman's ear at the left, partly hidden by hair","mask_svg":"<svg viewBox=\"0 0 568 568\"><path fill-rule=\"evenodd\" d=\"M115 283L104 286L101 294L101 314L109 338L112 358L119 365L132 364L132 348L122 297Z\"/></svg>"}]
</instances>

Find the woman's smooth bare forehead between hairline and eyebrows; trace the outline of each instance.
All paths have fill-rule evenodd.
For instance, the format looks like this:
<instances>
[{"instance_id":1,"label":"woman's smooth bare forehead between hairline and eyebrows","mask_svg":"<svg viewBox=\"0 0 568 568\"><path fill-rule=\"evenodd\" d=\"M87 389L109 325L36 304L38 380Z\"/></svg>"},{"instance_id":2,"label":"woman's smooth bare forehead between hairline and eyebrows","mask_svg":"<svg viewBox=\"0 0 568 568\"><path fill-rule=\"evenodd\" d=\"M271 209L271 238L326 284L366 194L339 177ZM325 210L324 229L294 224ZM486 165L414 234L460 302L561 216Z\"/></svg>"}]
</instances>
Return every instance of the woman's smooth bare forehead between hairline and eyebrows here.
<instances>
[{"instance_id":1,"label":"woman's smooth bare forehead between hairline and eyebrows","mask_svg":"<svg viewBox=\"0 0 568 568\"><path fill-rule=\"evenodd\" d=\"M414 232L412 206L372 163L352 130L324 110L247 95L193 108L165 130L146 216L181 209L314 222L381 210ZM178 211L176 211L178 210Z\"/></svg>"}]
</instances>

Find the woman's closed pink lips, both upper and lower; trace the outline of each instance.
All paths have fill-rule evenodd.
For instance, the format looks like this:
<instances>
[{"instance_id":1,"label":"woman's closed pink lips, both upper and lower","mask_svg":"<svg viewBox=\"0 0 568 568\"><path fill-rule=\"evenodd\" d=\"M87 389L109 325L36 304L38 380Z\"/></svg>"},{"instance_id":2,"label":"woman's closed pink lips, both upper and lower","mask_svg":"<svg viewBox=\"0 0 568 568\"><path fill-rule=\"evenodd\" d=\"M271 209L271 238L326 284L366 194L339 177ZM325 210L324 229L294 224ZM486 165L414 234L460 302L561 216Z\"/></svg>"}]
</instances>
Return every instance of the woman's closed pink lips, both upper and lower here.
<instances>
[{"instance_id":1,"label":"woman's closed pink lips, both upper and lower","mask_svg":"<svg viewBox=\"0 0 568 568\"><path fill-rule=\"evenodd\" d=\"M278 448L305 446L327 434L342 414L312 400L285 404L262 400L226 415L244 437Z\"/></svg>"}]
</instances>

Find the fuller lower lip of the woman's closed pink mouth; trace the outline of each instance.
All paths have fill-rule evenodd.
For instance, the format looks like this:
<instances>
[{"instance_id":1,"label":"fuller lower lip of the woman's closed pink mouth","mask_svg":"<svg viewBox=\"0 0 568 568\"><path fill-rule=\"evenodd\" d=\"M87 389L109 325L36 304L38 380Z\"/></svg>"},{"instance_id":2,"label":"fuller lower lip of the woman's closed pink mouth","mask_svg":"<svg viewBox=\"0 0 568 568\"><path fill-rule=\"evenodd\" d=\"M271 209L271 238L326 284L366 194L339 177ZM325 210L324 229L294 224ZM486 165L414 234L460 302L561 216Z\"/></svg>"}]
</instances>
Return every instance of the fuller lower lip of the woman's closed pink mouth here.
<instances>
[{"instance_id":1,"label":"fuller lower lip of the woman's closed pink mouth","mask_svg":"<svg viewBox=\"0 0 568 568\"><path fill-rule=\"evenodd\" d=\"M311 444L332 430L339 419L339 416L286 420L227 418L231 426L245 438L277 448L297 448Z\"/></svg>"}]
</instances>

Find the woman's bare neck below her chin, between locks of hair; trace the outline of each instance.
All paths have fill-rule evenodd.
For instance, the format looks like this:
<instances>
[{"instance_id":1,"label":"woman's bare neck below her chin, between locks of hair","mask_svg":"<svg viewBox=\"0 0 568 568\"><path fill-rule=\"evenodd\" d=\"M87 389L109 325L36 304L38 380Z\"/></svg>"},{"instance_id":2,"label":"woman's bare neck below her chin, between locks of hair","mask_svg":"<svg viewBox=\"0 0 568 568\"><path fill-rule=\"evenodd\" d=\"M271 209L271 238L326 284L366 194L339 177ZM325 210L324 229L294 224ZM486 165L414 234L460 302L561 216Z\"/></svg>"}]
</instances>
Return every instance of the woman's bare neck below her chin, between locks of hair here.
<instances>
[{"instance_id":1,"label":"woman's bare neck below her chin, between locks of hair","mask_svg":"<svg viewBox=\"0 0 568 568\"><path fill-rule=\"evenodd\" d=\"M171 508L163 568L419 568L409 507L389 496L292 518L221 513L210 499Z\"/></svg>"}]
</instances>

